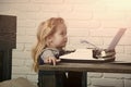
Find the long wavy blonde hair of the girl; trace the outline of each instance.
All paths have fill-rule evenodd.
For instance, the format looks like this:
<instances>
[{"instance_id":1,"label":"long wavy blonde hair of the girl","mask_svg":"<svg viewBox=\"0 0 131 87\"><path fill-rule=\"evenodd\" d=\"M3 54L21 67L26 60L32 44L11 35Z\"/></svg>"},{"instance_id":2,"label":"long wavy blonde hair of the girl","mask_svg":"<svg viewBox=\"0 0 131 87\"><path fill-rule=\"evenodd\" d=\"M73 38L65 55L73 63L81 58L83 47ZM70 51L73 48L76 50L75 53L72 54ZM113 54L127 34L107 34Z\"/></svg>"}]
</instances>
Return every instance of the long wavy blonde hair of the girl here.
<instances>
[{"instance_id":1,"label":"long wavy blonde hair of the girl","mask_svg":"<svg viewBox=\"0 0 131 87\"><path fill-rule=\"evenodd\" d=\"M35 72L38 71L38 58L43 50L48 45L48 37L51 36L59 24L63 24L64 21L61 17L51 17L46 22L41 22L37 30L37 44L32 50L32 57L34 60L33 69Z\"/></svg>"}]
</instances>

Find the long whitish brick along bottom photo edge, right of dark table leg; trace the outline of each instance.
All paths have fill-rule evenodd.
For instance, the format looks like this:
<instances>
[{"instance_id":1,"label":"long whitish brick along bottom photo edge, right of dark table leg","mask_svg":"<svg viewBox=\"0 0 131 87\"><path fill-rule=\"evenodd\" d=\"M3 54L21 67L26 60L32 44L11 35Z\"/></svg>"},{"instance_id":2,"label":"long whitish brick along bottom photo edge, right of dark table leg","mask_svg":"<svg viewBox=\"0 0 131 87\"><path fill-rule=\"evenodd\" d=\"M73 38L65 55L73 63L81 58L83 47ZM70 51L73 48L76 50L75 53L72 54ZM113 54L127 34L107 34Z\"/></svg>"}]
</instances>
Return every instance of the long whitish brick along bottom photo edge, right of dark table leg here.
<instances>
[{"instance_id":1,"label":"long whitish brick along bottom photo edge, right of dark table leg","mask_svg":"<svg viewBox=\"0 0 131 87\"><path fill-rule=\"evenodd\" d=\"M123 87L122 79L112 79L112 78L92 78L93 86L102 87Z\"/></svg>"}]
</instances>

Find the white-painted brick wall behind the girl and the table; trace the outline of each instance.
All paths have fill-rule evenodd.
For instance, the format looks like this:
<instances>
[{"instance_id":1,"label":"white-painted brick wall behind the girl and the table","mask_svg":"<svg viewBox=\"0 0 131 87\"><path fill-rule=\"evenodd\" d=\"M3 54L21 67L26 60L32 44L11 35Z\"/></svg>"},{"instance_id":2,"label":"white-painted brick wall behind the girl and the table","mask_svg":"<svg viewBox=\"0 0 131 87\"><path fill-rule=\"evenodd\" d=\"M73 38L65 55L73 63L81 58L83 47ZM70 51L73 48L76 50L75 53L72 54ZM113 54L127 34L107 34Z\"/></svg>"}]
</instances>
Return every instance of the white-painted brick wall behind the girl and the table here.
<instances>
[{"instance_id":1,"label":"white-painted brick wall behind the girl and the table","mask_svg":"<svg viewBox=\"0 0 131 87\"><path fill-rule=\"evenodd\" d=\"M68 26L67 48L85 48L87 39L106 48L117 30L128 28L116 48L119 59L131 60L130 0L0 0L0 14L17 16L16 49L13 50L12 78L26 77L34 84L31 49L37 26L49 17L63 17ZM131 87L130 74L88 73L88 87Z\"/></svg>"}]
</instances>

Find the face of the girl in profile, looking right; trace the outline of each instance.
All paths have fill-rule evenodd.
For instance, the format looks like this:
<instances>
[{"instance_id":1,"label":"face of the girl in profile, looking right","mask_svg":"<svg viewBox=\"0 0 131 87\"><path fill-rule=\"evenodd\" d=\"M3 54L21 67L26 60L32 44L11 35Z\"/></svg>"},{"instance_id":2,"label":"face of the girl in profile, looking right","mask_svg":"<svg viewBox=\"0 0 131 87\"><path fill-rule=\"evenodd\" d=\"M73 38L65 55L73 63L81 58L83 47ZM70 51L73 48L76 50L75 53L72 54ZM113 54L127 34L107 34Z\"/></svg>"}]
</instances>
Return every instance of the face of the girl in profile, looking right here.
<instances>
[{"instance_id":1,"label":"face of the girl in profile, looking right","mask_svg":"<svg viewBox=\"0 0 131 87\"><path fill-rule=\"evenodd\" d=\"M67 38L67 27L64 24L60 24L57 27L56 33L51 37L51 46L55 48L62 48L66 46L68 38Z\"/></svg>"}]
</instances>

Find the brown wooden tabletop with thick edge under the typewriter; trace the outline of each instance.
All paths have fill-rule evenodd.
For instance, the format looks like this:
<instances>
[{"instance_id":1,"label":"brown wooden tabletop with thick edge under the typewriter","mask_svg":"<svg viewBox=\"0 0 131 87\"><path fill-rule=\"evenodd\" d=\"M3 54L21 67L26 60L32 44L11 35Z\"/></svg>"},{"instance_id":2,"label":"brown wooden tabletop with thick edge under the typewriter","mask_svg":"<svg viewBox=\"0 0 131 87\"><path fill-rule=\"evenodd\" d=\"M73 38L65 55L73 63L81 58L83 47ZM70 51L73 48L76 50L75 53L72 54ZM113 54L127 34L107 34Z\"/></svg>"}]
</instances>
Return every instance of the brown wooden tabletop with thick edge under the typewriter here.
<instances>
[{"instance_id":1,"label":"brown wooden tabletop with thick edge under the typewriter","mask_svg":"<svg viewBox=\"0 0 131 87\"><path fill-rule=\"evenodd\" d=\"M59 63L57 65L39 65L40 71L76 71L99 73L130 73L131 63Z\"/></svg>"}]
</instances>

